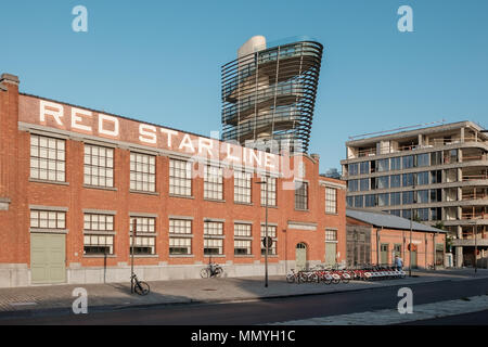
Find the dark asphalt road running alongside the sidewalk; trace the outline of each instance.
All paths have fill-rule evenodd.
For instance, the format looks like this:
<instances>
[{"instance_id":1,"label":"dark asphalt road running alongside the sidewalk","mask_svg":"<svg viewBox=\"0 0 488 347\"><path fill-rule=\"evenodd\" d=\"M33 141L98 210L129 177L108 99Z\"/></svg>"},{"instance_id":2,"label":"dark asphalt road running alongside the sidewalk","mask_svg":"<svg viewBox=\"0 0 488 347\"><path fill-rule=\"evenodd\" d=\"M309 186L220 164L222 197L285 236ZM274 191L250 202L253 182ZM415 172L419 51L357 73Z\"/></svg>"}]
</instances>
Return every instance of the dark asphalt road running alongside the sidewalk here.
<instances>
[{"instance_id":1,"label":"dark asphalt road running alongside the sidewalk","mask_svg":"<svg viewBox=\"0 0 488 347\"><path fill-rule=\"evenodd\" d=\"M219 305L159 306L145 309L121 309L79 316L44 316L2 319L0 324L163 324L163 325L251 325L396 309L399 286L360 292L310 295L282 299ZM442 281L411 285L413 305L488 294L488 279ZM485 318L486 314L479 316ZM478 322L479 323L479 322Z\"/></svg>"}]
</instances>

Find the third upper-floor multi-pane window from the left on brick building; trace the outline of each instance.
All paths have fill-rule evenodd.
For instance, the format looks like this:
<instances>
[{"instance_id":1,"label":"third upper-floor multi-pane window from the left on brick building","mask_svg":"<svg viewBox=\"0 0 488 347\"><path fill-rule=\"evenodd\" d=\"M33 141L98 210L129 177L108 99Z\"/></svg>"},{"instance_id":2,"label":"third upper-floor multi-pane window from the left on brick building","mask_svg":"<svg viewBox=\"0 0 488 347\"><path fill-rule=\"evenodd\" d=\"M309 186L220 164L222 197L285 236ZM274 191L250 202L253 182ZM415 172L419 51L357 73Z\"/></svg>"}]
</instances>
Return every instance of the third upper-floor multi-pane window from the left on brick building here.
<instances>
[{"instance_id":1,"label":"third upper-floor multi-pane window from the left on brick building","mask_svg":"<svg viewBox=\"0 0 488 347\"><path fill-rule=\"evenodd\" d=\"M130 153L130 189L141 192L156 191L156 157Z\"/></svg>"}]
</instances>

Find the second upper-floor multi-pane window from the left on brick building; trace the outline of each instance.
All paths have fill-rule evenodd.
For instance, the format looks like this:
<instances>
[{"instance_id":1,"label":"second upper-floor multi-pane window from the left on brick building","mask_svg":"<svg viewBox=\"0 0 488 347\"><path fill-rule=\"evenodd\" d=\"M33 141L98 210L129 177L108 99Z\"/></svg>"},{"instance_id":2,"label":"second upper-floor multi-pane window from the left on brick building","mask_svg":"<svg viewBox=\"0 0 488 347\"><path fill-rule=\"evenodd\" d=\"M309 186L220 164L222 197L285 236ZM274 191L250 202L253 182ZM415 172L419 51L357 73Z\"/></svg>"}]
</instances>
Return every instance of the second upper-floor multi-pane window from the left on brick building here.
<instances>
[{"instance_id":1,"label":"second upper-floor multi-pane window from the left on brick building","mask_svg":"<svg viewBox=\"0 0 488 347\"><path fill-rule=\"evenodd\" d=\"M114 150L85 144L84 183L97 187L114 187Z\"/></svg>"}]
</instances>

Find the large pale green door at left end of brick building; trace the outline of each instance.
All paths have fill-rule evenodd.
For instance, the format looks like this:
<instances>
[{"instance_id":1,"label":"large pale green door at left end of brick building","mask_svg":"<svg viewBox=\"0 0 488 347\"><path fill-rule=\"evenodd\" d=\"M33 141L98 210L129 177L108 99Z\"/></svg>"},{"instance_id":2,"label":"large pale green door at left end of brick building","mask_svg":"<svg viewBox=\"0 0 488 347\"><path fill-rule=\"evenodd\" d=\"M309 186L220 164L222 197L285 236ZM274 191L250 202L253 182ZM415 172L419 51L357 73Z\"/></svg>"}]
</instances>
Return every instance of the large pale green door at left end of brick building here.
<instances>
[{"instance_id":1,"label":"large pale green door at left end of brick building","mask_svg":"<svg viewBox=\"0 0 488 347\"><path fill-rule=\"evenodd\" d=\"M30 234L31 283L66 282L65 235Z\"/></svg>"}]
</instances>

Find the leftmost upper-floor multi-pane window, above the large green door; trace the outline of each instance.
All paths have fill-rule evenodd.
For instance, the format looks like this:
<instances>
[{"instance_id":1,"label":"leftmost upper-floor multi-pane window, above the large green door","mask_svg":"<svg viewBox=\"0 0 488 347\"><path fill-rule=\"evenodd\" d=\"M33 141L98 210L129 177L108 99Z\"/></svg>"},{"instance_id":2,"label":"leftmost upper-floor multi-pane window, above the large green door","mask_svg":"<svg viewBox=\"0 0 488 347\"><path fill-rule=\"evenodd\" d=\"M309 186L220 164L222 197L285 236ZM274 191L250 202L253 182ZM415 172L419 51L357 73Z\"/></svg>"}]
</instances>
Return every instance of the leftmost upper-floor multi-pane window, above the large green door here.
<instances>
[{"instance_id":1,"label":"leftmost upper-floor multi-pane window, above the large green door","mask_svg":"<svg viewBox=\"0 0 488 347\"><path fill-rule=\"evenodd\" d=\"M65 181L64 140L30 134L30 178Z\"/></svg>"}]
</instances>

